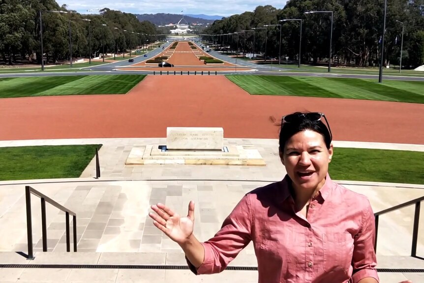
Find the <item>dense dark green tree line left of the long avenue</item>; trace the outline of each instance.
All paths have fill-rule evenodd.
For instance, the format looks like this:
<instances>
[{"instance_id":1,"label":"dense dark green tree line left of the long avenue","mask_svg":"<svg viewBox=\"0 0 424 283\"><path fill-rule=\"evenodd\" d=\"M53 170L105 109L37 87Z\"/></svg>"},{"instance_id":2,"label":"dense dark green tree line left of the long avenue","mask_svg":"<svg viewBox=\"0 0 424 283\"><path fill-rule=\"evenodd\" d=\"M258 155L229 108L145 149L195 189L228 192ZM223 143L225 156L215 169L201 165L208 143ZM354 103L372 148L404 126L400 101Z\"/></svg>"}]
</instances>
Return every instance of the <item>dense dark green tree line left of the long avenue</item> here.
<instances>
[{"instance_id":1,"label":"dense dark green tree line left of the long avenue","mask_svg":"<svg viewBox=\"0 0 424 283\"><path fill-rule=\"evenodd\" d=\"M105 8L99 14L81 15L67 9L66 5L59 6L54 0L2 0L0 55L3 62L41 63L40 11L43 53L47 62L69 60L69 27L74 58L89 57L89 41L91 57L95 57L103 52L103 42L105 53L121 53L126 48L158 39L157 35L143 35L157 34L151 22L140 22L130 13Z\"/></svg>"}]
</instances>

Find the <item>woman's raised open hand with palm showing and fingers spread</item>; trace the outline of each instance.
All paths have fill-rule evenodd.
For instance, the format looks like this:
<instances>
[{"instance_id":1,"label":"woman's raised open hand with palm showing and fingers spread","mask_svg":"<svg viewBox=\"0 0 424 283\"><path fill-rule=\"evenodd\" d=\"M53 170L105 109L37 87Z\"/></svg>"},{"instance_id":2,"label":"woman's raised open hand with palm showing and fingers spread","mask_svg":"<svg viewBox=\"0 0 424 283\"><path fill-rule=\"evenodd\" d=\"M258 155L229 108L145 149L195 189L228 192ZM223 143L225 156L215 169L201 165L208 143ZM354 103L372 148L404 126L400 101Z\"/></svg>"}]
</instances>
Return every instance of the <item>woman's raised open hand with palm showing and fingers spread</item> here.
<instances>
[{"instance_id":1,"label":"woman's raised open hand with palm showing and fingers spread","mask_svg":"<svg viewBox=\"0 0 424 283\"><path fill-rule=\"evenodd\" d=\"M165 235L178 244L183 244L193 234L194 226L194 202L188 204L188 214L181 217L162 203L152 205L151 209L156 213L149 213L153 224Z\"/></svg>"}]
</instances>

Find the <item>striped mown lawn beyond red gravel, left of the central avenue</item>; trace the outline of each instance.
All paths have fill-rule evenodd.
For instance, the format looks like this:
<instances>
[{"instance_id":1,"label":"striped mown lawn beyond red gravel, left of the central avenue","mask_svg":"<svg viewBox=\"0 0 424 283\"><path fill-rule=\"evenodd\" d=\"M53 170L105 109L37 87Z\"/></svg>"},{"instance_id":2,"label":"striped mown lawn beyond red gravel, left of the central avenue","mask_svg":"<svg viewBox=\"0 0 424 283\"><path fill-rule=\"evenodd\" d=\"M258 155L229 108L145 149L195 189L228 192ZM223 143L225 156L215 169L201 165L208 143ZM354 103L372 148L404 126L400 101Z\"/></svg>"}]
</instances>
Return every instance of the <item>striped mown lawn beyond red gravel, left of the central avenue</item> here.
<instances>
[{"instance_id":1,"label":"striped mown lawn beyond red gravel, left of the central avenue","mask_svg":"<svg viewBox=\"0 0 424 283\"><path fill-rule=\"evenodd\" d=\"M75 75L0 78L0 98L69 94L126 94L145 76Z\"/></svg>"}]
</instances>

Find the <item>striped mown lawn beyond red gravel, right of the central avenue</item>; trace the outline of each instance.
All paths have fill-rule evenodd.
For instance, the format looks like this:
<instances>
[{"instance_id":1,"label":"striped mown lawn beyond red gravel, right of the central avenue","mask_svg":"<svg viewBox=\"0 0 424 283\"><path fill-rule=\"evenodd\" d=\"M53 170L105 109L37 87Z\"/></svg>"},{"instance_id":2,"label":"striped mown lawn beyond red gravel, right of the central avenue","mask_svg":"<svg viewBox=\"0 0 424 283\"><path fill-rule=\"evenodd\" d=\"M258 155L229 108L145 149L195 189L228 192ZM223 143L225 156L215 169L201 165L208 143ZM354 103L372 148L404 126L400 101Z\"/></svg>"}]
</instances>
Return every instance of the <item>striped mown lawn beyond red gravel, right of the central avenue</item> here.
<instances>
[{"instance_id":1,"label":"striped mown lawn beyond red gravel, right of the central avenue","mask_svg":"<svg viewBox=\"0 0 424 283\"><path fill-rule=\"evenodd\" d=\"M424 103L424 82L301 76L227 75L249 94L296 95Z\"/></svg>"}]
</instances>

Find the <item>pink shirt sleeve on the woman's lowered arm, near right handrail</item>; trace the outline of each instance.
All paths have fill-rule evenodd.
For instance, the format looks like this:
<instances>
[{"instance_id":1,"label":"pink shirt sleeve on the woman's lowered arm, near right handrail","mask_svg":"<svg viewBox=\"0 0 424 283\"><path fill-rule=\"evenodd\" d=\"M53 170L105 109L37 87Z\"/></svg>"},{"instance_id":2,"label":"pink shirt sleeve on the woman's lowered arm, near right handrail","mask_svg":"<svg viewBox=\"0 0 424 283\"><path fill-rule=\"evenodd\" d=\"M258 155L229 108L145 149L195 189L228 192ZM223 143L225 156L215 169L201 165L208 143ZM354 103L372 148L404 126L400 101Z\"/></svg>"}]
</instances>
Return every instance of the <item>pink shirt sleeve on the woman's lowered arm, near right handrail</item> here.
<instances>
[{"instance_id":1,"label":"pink shirt sleeve on the woman's lowered arm, near right handrail","mask_svg":"<svg viewBox=\"0 0 424 283\"><path fill-rule=\"evenodd\" d=\"M371 205L368 201L367 207L363 210L361 230L354 240L354 251L352 257L353 283L358 283L361 279L366 277L372 277L379 282L376 270L377 258L374 252L374 240L374 213L372 212Z\"/></svg>"}]
</instances>

